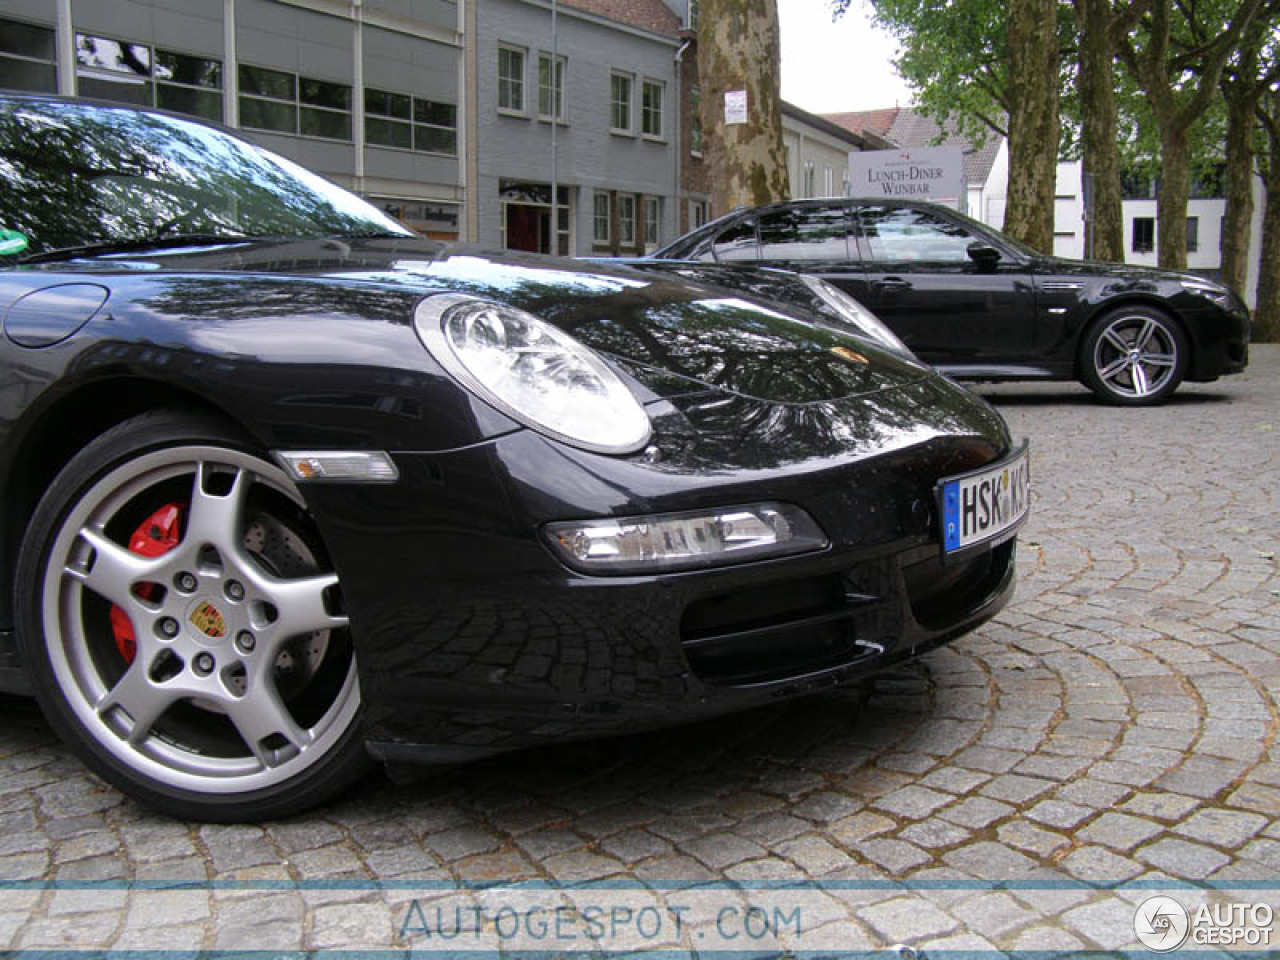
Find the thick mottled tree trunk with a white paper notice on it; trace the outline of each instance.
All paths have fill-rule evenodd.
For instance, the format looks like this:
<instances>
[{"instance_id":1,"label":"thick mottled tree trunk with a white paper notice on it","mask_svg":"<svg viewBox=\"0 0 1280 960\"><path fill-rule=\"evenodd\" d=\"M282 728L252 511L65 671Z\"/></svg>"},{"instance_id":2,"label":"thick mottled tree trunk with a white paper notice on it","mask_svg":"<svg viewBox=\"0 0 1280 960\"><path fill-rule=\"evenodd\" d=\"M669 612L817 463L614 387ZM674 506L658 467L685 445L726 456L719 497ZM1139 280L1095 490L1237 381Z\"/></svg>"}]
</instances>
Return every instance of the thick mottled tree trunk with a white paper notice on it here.
<instances>
[{"instance_id":1,"label":"thick mottled tree trunk with a white paper notice on it","mask_svg":"<svg viewBox=\"0 0 1280 960\"><path fill-rule=\"evenodd\" d=\"M703 0L698 70L704 154L717 215L790 196L780 56L774 0ZM746 123L724 123L724 95L730 91L746 91Z\"/></svg>"}]
</instances>

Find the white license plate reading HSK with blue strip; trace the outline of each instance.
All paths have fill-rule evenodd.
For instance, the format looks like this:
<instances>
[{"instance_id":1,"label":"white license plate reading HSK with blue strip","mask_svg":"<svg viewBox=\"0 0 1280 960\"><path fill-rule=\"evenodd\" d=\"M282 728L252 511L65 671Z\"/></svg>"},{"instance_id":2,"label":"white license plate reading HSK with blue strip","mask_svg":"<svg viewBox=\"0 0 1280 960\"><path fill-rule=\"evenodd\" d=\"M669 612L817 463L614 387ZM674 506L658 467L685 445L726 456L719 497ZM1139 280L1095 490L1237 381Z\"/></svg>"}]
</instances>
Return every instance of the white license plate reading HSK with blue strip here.
<instances>
[{"instance_id":1,"label":"white license plate reading HSK with blue strip","mask_svg":"<svg viewBox=\"0 0 1280 960\"><path fill-rule=\"evenodd\" d=\"M1030 508L1027 444L995 466L943 480L941 488L946 553L996 539L1021 524Z\"/></svg>"}]
</instances>

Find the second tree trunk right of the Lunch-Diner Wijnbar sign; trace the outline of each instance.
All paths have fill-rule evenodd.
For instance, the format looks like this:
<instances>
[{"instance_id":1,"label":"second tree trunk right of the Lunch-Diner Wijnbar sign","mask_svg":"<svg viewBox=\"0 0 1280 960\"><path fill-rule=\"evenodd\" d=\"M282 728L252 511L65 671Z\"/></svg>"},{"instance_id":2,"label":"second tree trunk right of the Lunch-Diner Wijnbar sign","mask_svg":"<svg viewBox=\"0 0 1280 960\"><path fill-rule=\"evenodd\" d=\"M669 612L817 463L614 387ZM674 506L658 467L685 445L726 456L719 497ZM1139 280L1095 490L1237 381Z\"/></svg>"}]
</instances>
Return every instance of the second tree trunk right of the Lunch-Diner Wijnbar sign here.
<instances>
[{"instance_id":1,"label":"second tree trunk right of the Lunch-Diner Wijnbar sign","mask_svg":"<svg viewBox=\"0 0 1280 960\"><path fill-rule=\"evenodd\" d=\"M1094 260L1124 261L1124 202L1116 136L1115 46L1111 0L1075 0L1080 33L1080 95L1084 175L1093 218L1084 225L1084 252Z\"/></svg>"}]
</instances>

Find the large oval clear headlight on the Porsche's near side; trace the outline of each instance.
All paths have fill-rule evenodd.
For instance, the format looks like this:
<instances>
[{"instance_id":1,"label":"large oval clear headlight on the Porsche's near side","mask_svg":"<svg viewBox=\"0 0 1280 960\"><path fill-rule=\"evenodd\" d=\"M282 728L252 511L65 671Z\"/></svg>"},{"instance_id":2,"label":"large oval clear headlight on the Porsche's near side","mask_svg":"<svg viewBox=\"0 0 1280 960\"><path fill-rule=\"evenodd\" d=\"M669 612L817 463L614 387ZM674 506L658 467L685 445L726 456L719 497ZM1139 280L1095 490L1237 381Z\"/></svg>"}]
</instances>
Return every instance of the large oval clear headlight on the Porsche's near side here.
<instances>
[{"instance_id":1,"label":"large oval clear headlight on the Porsche's near side","mask_svg":"<svg viewBox=\"0 0 1280 960\"><path fill-rule=\"evenodd\" d=\"M532 314L444 294L419 305L413 328L462 384L539 433L598 453L632 453L649 440L649 415L622 379Z\"/></svg>"}]
</instances>

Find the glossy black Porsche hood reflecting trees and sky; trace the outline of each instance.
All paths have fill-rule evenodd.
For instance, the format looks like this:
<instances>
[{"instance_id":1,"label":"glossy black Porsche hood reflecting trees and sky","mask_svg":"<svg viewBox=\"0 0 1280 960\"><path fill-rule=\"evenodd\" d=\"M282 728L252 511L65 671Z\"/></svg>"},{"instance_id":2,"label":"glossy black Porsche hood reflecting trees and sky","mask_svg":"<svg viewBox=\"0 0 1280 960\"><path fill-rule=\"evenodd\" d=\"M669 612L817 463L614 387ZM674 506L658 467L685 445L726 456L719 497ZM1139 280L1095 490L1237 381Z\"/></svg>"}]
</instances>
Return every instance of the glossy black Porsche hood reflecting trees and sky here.
<instances>
[{"instance_id":1,"label":"glossy black Porsche hood reflecting trees and sky","mask_svg":"<svg viewBox=\"0 0 1280 960\"><path fill-rule=\"evenodd\" d=\"M56 265L54 265L56 266ZM65 265L63 265L65 269ZM36 269L36 268L33 268ZM246 242L78 261L78 270L264 274L470 293L527 310L613 357L663 397L713 388L817 403L920 381L928 367L887 353L787 298L783 274L732 280L677 269L494 253L413 239ZM812 306L812 305L810 305ZM406 317L408 321L408 317Z\"/></svg>"}]
</instances>

